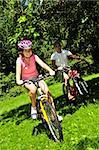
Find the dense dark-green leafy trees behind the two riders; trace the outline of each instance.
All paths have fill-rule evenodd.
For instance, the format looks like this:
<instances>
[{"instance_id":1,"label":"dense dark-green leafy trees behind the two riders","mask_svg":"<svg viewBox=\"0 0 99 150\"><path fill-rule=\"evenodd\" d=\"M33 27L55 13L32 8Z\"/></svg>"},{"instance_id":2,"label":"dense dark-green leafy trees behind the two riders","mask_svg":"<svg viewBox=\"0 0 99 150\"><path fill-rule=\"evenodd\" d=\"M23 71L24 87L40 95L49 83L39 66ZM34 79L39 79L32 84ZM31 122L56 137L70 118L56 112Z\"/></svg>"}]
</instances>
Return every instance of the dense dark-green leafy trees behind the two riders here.
<instances>
[{"instance_id":1,"label":"dense dark-green leafy trees behind the two riders","mask_svg":"<svg viewBox=\"0 0 99 150\"><path fill-rule=\"evenodd\" d=\"M16 45L24 37L49 65L55 40L73 53L92 55L98 63L98 7L97 1L28 0L26 5L25 0L2 0L1 72L15 72Z\"/></svg>"}]
</instances>

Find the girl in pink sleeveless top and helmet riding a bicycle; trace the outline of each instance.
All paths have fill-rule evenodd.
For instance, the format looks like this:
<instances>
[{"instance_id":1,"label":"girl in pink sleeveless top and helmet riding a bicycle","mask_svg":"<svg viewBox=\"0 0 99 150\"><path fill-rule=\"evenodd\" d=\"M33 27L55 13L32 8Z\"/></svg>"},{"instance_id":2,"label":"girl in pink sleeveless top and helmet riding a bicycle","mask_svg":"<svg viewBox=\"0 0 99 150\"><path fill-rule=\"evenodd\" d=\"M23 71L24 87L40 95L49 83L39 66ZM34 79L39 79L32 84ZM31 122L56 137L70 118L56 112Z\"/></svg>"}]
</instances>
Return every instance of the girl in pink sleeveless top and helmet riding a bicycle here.
<instances>
[{"instance_id":1,"label":"girl in pink sleeveless top and helmet riding a bicycle","mask_svg":"<svg viewBox=\"0 0 99 150\"><path fill-rule=\"evenodd\" d=\"M36 79L38 77L39 73L36 68L36 63L47 70L50 75L55 75L55 72L47 64L32 53L32 42L30 40L22 40L18 44L18 47L21 54L16 61L16 82L18 85L22 85L23 80ZM49 89L46 83L41 80L39 81L39 85L42 91L47 94ZM31 117L32 119L36 119L36 86L33 83L25 83L25 87L29 90L29 96L32 102Z\"/></svg>"}]
</instances>

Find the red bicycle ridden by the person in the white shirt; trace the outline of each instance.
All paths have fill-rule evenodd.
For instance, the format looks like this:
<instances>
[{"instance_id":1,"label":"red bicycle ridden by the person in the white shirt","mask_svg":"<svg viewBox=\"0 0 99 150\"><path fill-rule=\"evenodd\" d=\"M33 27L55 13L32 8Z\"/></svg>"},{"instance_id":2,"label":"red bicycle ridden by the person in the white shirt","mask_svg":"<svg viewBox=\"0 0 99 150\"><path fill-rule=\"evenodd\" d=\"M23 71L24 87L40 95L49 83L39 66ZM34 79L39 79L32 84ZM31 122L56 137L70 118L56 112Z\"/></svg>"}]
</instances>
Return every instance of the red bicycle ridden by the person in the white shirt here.
<instances>
[{"instance_id":1,"label":"red bicycle ridden by the person in the white shirt","mask_svg":"<svg viewBox=\"0 0 99 150\"><path fill-rule=\"evenodd\" d=\"M88 84L82 79L78 71L69 66L60 67L58 70L62 71L62 76L64 73L68 74L69 76L67 84L65 83L64 79L62 84L62 91L68 102L77 100L79 96L83 103L86 103L84 96L88 94Z\"/></svg>"}]
</instances>

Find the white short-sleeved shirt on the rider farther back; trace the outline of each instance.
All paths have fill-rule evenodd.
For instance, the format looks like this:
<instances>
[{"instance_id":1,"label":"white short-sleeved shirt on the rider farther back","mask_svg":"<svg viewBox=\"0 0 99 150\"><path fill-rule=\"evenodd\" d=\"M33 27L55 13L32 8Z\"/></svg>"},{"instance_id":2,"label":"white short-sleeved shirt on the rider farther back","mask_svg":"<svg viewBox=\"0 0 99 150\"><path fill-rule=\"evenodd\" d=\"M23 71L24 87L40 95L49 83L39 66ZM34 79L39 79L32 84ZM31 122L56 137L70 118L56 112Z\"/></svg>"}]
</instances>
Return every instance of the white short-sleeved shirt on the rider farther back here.
<instances>
[{"instance_id":1,"label":"white short-sleeved shirt on the rider farther back","mask_svg":"<svg viewBox=\"0 0 99 150\"><path fill-rule=\"evenodd\" d=\"M61 50L61 53L54 52L51 55L51 60L55 60L56 66L65 67L68 65L68 56L72 55L72 53L68 50Z\"/></svg>"}]
</instances>

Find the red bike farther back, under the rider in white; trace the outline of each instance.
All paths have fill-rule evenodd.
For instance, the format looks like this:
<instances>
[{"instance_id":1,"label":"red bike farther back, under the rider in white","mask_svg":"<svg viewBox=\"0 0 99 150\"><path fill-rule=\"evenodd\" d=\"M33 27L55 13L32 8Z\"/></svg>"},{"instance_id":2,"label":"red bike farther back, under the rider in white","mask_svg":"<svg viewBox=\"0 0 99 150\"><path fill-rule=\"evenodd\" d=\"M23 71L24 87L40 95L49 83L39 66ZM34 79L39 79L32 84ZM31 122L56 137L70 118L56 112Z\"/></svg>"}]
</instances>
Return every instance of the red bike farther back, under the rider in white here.
<instances>
[{"instance_id":1,"label":"red bike farther back, under the rider in white","mask_svg":"<svg viewBox=\"0 0 99 150\"><path fill-rule=\"evenodd\" d=\"M75 99L77 97L77 95L81 95L83 96L84 93L82 92L82 90L84 89L84 91L86 93L88 93L88 90L87 90L87 83L80 77L80 74L78 73L77 70L75 69L71 69L70 67L67 67L67 68L61 68L62 71L62 76L63 76L63 79L64 79L64 73L66 73L69 77L69 79L67 79L67 82L65 83L65 79L63 80L63 93L67 95L67 99L72 99L72 98L69 98L68 96L72 97L73 96L73 99ZM73 85L71 85L71 80L73 81ZM79 82L81 84L81 87L79 86ZM66 90L64 89L66 88Z\"/></svg>"}]
</instances>

